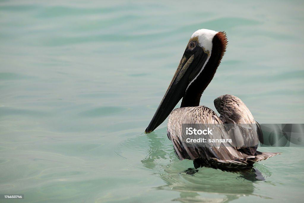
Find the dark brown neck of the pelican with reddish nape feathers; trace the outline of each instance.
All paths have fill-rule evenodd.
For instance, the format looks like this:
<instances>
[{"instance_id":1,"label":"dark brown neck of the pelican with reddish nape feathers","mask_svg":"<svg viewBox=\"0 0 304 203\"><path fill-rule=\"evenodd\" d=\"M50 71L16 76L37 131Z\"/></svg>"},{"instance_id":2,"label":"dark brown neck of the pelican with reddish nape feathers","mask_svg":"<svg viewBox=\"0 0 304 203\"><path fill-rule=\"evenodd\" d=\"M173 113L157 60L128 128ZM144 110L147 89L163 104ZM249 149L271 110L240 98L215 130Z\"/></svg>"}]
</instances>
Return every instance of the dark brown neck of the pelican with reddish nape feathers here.
<instances>
[{"instance_id":1,"label":"dark brown neck of the pelican with reddish nape feathers","mask_svg":"<svg viewBox=\"0 0 304 203\"><path fill-rule=\"evenodd\" d=\"M224 32L217 33L212 40L212 53L209 61L205 65L202 72L188 87L181 107L196 107L199 106L202 93L207 88L219 66L221 59L226 51L227 38Z\"/></svg>"}]
</instances>

